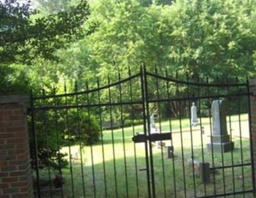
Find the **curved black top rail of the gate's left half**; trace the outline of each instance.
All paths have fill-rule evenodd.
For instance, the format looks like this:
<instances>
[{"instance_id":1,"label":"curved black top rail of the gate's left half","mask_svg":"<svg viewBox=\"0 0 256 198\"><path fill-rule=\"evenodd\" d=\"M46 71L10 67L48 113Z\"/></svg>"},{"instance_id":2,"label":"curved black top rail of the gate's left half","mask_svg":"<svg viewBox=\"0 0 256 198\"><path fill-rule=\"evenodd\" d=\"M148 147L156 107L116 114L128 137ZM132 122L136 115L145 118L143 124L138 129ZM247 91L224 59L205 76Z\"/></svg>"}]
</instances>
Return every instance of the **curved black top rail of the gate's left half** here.
<instances>
[{"instance_id":1,"label":"curved black top rail of the gate's left half","mask_svg":"<svg viewBox=\"0 0 256 198\"><path fill-rule=\"evenodd\" d=\"M136 77L140 77L140 75L141 75L141 72L137 73L135 75L132 75L131 77L128 77L126 79L122 79L120 81L113 82L111 84L107 84L106 86L101 86L99 88L89 89L89 90L86 90L86 91L78 91L78 92L74 92L74 93L63 93L63 94L59 94L59 95L49 95L49 96L35 96L35 97L33 97L33 100L42 100L42 99L47 99L47 98L61 98L63 96L77 96L77 95L84 95L84 94L88 94L88 93L93 93L93 92L96 92L96 91L100 91L102 89L107 89L107 88L111 88L113 86L117 86L119 84L130 81L132 79L136 79Z\"/></svg>"}]
</instances>

